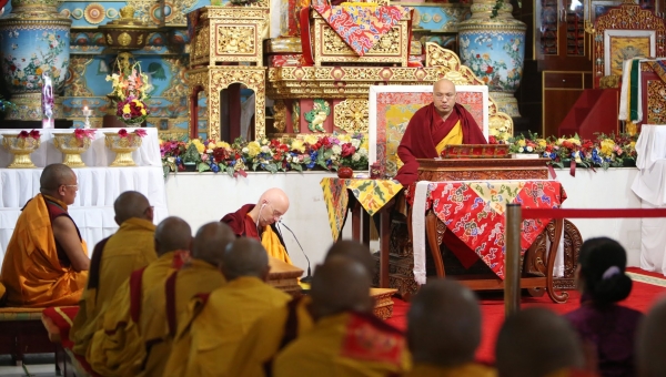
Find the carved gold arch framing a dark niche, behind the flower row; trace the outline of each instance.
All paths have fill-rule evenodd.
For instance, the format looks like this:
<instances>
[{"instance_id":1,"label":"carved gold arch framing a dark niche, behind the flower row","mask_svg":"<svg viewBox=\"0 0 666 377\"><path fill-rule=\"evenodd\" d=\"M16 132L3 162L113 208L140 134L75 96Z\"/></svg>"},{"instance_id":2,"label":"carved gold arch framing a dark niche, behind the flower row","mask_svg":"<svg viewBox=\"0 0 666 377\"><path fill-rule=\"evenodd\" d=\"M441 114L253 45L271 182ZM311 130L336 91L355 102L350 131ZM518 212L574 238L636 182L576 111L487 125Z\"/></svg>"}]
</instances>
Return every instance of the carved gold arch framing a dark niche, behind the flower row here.
<instances>
[{"instance_id":1,"label":"carved gold arch framing a dark niche, behind the flower row","mask_svg":"<svg viewBox=\"0 0 666 377\"><path fill-rule=\"evenodd\" d=\"M208 95L209 139L220 140L220 93L232 83L244 84L254 91L254 133L256 139L265 136L265 68L248 65L200 68L189 71L188 82L193 91L202 88ZM190 114L190 134L193 126L192 115Z\"/></svg>"}]
</instances>

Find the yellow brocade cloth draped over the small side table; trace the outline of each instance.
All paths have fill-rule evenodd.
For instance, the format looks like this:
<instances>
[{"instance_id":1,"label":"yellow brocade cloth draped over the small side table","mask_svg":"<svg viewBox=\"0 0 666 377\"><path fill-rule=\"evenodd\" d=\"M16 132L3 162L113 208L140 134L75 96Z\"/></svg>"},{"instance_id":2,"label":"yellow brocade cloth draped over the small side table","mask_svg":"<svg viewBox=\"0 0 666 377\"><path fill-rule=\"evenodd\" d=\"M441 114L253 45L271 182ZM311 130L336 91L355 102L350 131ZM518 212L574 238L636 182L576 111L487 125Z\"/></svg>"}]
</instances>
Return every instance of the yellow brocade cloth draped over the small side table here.
<instances>
[{"instance_id":1,"label":"yellow brocade cloth draped over the small side table","mask_svg":"<svg viewBox=\"0 0 666 377\"><path fill-rule=\"evenodd\" d=\"M397 195L403 186L394 180L342 180L323 179L324 202L329 213L329 225L333 241L337 241L346 220L350 203L349 193L361 203L365 212L373 216Z\"/></svg>"}]
</instances>

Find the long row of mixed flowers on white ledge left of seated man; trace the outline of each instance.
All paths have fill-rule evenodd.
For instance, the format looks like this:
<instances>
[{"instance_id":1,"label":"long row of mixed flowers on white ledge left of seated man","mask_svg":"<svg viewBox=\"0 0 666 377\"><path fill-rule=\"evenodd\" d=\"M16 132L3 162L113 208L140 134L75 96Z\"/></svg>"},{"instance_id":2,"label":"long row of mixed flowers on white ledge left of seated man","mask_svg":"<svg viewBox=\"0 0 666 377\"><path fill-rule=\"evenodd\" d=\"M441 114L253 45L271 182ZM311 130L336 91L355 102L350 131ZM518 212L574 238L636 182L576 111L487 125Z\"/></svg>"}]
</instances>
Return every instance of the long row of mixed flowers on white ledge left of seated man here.
<instances>
[{"instance_id":1,"label":"long row of mixed flowers on white ledge left of seated man","mask_svg":"<svg viewBox=\"0 0 666 377\"><path fill-rule=\"evenodd\" d=\"M315 167L336 171L341 166L367 170L367 139L362 134L251 142L236 139L232 144L212 140L165 141L161 142L160 152L164 173L183 171L184 163L194 163L199 172L225 172L231 176L245 175L248 170L272 173Z\"/></svg>"}]
</instances>

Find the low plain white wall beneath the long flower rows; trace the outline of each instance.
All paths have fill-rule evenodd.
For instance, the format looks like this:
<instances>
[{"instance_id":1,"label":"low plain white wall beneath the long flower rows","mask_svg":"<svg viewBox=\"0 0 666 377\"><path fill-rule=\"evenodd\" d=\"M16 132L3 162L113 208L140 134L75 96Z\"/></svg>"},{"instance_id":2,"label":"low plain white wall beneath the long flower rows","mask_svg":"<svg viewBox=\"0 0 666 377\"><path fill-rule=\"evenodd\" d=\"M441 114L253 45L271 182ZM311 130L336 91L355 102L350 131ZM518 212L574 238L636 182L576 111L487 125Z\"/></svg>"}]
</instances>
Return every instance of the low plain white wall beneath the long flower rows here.
<instances>
[{"instance_id":1,"label":"low plain white wall beneath the long flower rows","mask_svg":"<svg viewBox=\"0 0 666 377\"><path fill-rule=\"evenodd\" d=\"M567 194L566 208L639 208L640 200L632 192L638 170L609 169L608 171L576 170L576 176L568 170L557 170L557 180ZM291 201L283 222L294 231L312 267L323 261L333 238L329 227L329 216L320 182L333 173L249 173L248 177L232 179L229 175L178 173L167 179L167 204L169 214L181 216L192 228L211 221L219 221L241 205L255 203L269 187L281 187ZM618 240L627 249L628 264L639 265L640 220L603 218L572 220L583 240L594 236L608 236ZM284 231L284 238L295 265L305 269L307 264L292 235ZM351 237L351 218L347 218L344 237ZM372 246L375 246L373 243ZM373 247L376 249L376 246Z\"/></svg>"}]
</instances>

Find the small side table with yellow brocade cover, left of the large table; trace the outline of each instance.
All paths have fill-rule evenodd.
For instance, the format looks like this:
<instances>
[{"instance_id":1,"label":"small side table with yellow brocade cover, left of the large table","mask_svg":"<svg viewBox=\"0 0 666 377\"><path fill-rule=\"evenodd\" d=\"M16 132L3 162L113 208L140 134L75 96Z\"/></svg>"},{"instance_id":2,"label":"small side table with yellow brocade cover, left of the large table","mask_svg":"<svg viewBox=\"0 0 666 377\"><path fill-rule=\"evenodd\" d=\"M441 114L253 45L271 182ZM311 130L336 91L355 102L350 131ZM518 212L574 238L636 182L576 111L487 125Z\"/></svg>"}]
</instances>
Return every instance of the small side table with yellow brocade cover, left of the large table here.
<instances>
[{"instance_id":1,"label":"small side table with yellow brocade cover, left of the large table","mask_svg":"<svg viewBox=\"0 0 666 377\"><path fill-rule=\"evenodd\" d=\"M391 210L403 186L394 180L323 179L324 202L333 241L340 238L347 211L352 212L352 238L370 243L370 217L379 214L380 287L389 288L389 243ZM352 194L350 196L350 193ZM363 211L362 211L363 210ZM363 222L361 217L363 216ZM363 232L361 230L363 223Z\"/></svg>"}]
</instances>

